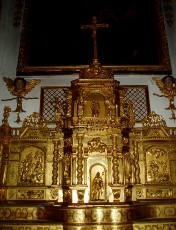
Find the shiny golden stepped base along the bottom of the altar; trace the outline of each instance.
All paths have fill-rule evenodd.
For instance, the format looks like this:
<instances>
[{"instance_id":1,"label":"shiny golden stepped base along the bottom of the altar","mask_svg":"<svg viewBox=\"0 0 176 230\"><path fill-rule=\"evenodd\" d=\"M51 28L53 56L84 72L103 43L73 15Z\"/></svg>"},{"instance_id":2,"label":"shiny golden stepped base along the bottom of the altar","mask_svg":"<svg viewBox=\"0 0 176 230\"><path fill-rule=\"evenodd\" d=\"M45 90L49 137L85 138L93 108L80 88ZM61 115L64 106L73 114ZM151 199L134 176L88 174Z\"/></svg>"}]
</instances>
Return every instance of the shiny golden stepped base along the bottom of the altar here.
<instances>
[{"instance_id":1,"label":"shiny golden stepped base along the bottom of the altar","mask_svg":"<svg viewBox=\"0 0 176 230\"><path fill-rule=\"evenodd\" d=\"M71 205L2 204L0 229L176 229L176 201Z\"/></svg>"}]
</instances>

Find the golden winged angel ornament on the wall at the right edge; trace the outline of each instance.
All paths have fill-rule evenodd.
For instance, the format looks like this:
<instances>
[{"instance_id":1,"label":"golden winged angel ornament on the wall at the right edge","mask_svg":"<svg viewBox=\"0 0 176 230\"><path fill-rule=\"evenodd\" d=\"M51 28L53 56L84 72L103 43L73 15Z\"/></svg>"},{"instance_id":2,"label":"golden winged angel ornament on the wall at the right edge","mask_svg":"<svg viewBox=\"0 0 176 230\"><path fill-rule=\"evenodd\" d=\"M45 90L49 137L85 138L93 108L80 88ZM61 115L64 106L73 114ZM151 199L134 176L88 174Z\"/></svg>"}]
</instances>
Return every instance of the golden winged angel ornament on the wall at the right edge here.
<instances>
[{"instance_id":1,"label":"golden winged angel ornament on the wall at the right edge","mask_svg":"<svg viewBox=\"0 0 176 230\"><path fill-rule=\"evenodd\" d=\"M165 109L170 109L172 111L171 119L175 120L176 117L174 114L174 110L176 109L176 107L174 104L174 97L176 96L176 79L171 75L167 75L162 79L153 77L153 80L156 82L158 88L162 92L162 95L158 95L156 93L153 93L153 95L156 95L158 97L167 97L169 99L169 107Z\"/></svg>"}]
</instances>

